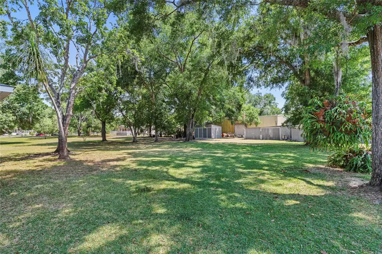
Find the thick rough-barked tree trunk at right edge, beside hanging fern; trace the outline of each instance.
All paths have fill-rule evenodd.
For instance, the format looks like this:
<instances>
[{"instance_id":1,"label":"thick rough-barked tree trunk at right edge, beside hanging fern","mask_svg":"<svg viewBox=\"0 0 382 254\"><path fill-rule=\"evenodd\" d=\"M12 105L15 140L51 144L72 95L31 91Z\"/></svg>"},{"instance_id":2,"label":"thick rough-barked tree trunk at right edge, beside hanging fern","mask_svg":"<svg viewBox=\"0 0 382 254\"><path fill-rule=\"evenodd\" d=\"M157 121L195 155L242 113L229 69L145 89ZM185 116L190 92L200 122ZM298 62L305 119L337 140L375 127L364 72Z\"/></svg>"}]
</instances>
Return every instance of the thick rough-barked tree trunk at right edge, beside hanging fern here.
<instances>
[{"instance_id":1,"label":"thick rough-barked tree trunk at right edge, beside hanging fern","mask_svg":"<svg viewBox=\"0 0 382 254\"><path fill-rule=\"evenodd\" d=\"M382 185L382 25L374 25L367 34L372 79L372 173L369 184Z\"/></svg>"}]
</instances>

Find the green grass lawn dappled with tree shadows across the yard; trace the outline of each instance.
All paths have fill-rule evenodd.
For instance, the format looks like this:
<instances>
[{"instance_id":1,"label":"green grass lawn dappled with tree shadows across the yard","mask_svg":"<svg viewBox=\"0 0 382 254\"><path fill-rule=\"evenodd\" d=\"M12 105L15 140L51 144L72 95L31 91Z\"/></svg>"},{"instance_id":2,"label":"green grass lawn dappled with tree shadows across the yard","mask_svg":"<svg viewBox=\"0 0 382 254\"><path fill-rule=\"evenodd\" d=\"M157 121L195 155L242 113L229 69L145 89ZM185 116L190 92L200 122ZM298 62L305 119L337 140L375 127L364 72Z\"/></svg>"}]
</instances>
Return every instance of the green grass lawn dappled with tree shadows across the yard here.
<instances>
[{"instance_id":1,"label":"green grass lawn dappled with tree shadows across the yard","mask_svg":"<svg viewBox=\"0 0 382 254\"><path fill-rule=\"evenodd\" d=\"M382 253L368 176L303 143L108 139L1 138L0 253Z\"/></svg>"}]
</instances>

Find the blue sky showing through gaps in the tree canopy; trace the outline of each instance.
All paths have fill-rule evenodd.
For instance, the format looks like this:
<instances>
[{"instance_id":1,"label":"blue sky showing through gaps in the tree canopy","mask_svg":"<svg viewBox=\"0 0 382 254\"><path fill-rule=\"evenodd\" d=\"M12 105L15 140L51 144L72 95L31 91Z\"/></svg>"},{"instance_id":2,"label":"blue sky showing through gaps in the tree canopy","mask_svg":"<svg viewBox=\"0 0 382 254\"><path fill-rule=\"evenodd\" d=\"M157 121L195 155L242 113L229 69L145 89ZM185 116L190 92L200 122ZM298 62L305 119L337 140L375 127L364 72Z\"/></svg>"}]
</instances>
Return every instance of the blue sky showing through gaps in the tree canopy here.
<instances>
[{"instance_id":1,"label":"blue sky showing through gaps in the tree canopy","mask_svg":"<svg viewBox=\"0 0 382 254\"><path fill-rule=\"evenodd\" d=\"M12 6L10 6L10 8L11 7ZM13 6L13 7L15 7L15 6ZM37 14L39 13L39 9L37 7L37 4L29 5L29 10L31 11L32 18L35 18L37 16ZM13 13L12 16L14 16L15 18L21 19L21 20L27 19L27 15L26 15L25 10L20 10L17 13ZM5 18L5 16L3 16L3 18ZM109 21L114 22L115 18L110 16ZM72 57L70 57L69 61L72 65L75 64L76 53L77 53L77 51L75 50L75 48L73 46L71 46L70 55ZM283 92L283 89L269 89L269 88L261 87L261 88L254 88L253 90L251 90L251 93L257 93L257 92L261 92L262 94L272 93L276 98L276 102L278 103L278 108L282 108L284 106L285 99L281 95Z\"/></svg>"}]
</instances>

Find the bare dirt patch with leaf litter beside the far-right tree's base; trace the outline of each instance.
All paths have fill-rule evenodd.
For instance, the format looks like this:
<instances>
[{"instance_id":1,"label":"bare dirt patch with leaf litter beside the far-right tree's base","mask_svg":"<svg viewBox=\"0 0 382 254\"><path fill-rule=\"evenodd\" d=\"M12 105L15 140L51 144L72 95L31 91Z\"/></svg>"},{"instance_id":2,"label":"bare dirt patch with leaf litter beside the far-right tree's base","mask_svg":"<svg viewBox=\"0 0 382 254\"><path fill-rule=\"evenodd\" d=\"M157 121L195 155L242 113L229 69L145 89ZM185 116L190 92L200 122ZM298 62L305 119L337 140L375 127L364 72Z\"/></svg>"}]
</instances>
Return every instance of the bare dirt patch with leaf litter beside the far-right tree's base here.
<instances>
[{"instance_id":1,"label":"bare dirt patch with leaf litter beside the far-right tree's base","mask_svg":"<svg viewBox=\"0 0 382 254\"><path fill-rule=\"evenodd\" d=\"M359 173L348 172L340 168L333 167L312 167L309 169L312 173L325 174L327 180L335 182L340 188L345 188L345 192L351 196L361 196L374 204L382 204L382 187L372 187L367 183L369 180L359 178ZM343 195L343 191L338 191Z\"/></svg>"}]
</instances>

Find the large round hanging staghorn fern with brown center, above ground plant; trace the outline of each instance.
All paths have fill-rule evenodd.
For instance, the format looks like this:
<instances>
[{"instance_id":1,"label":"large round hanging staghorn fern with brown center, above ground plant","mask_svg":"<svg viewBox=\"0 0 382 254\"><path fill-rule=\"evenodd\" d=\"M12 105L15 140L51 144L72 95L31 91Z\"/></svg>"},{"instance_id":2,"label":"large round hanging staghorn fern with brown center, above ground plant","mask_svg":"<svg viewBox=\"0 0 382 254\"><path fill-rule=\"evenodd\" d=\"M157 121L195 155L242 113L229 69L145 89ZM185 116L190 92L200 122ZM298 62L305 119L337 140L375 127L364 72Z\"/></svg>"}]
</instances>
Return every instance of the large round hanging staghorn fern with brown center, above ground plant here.
<instances>
[{"instance_id":1,"label":"large round hanging staghorn fern with brown center, above ground plant","mask_svg":"<svg viewBox=\"0 0 382 254\"><path fill-rule=\"evenodd\" d=\"M371 108L355 96L313 98L303 111L303 137L313 149L359 151L371 140Z\"/></svg>"}]
</instances>

